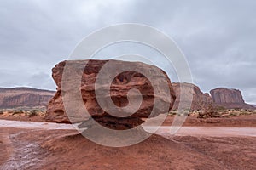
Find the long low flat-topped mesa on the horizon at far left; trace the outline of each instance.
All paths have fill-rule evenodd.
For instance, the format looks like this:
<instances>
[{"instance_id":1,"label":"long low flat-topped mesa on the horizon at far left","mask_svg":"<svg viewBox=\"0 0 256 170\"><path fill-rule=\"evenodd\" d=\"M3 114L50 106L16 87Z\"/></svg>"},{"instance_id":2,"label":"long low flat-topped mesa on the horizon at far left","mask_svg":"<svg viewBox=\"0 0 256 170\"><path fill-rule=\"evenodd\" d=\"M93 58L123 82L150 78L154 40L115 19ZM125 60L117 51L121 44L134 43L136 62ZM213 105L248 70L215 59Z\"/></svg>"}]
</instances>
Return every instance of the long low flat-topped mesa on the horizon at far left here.
<instances>
[{"instance_id":1,"label":"long low flat-topped mesa on the horizon at far left","mask_svg":"<svg viewBox=\"0 0 256 170\"><path fill-rule=\"evenodd\" d=\"M34 88L0 88L0 108L46 106L54 94Z\"/></svg>"}]
</instances>

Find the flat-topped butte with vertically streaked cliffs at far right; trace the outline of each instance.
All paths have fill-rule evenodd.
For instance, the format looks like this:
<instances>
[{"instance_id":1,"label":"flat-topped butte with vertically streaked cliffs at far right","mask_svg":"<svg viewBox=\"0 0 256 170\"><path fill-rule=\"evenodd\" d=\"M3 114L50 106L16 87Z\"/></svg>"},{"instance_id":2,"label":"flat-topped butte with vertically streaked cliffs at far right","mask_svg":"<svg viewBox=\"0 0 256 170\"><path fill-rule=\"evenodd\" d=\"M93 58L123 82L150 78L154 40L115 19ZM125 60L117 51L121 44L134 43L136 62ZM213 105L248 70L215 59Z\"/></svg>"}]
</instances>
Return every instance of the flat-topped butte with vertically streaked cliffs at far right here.
<instances>
[{"instance_id":1,"label":"flat-topped butte with vertically streaked cliffs at far right","mask_svg":"<svg viewBox=\"0 0 256 170\"><path fill-rule=\"evenodd\" d=\"M248 105L242 99L241 91L238 89L215 88L210 91L215 106L226 109L241 108L255 109L253 105Z\"/></svg>"}]
</instances>

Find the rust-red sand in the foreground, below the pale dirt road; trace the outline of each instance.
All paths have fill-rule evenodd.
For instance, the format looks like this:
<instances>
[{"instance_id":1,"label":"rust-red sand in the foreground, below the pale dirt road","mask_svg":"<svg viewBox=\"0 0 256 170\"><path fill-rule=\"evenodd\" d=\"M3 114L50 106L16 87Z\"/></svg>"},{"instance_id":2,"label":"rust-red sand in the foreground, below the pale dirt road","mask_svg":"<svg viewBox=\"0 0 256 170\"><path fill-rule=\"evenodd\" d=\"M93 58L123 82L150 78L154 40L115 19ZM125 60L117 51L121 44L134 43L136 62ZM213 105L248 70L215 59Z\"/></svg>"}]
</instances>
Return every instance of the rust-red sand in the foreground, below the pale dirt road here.
<instances>
[{"instance_id":1,"label":"rust-red sand in the foreground, below the pale dirt road","mask_svg":"<svg viewBox=\"0 0 256 170\"><path fill-rule=\"evenodd\" d=\"M211 128L211 127L209 127ZM152 135L110 148L75 130L0 127L0 169L256 169L255 137Z\"/></svg>"}]
</instances>

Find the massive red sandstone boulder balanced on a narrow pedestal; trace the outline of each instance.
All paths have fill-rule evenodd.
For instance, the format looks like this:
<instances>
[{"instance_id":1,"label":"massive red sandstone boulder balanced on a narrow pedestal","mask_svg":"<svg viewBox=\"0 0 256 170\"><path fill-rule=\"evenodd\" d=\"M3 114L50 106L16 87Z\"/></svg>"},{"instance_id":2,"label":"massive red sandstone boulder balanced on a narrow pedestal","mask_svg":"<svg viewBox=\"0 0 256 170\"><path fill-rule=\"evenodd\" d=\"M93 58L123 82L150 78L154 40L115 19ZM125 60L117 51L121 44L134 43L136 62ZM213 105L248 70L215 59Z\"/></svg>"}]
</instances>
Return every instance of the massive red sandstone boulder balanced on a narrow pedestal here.
<instances>
[{"instance_id":1,"label":"massive red sandstone boulder balanced on a narrow pedestal","mask_svg":"<svg viewBox=\"0 0 256 170\"><path fill-rule=\"evenodd\" d=\"M108 84L104 84L103 82L96 82L97 76L100 74L100 71L103 65L106 65L109 61L111 61L111 65L119 68L136 68L135 70L128 70L119 72L116 77L113 78L113 81L110 85L110 94L104 94L104 90L108 87ZM68 62L67 75L68 78L62 80L62 74L65 66ZM85 64L87 64L85 66ZM67 69L67 68L66 68ZM71 73L72 72L72 73ZM143 72L147 72L150 77L154 77L151 80L148 80ZM159 74L161 73L161 74ZM81 75L81 76L79 76ZM166 72L160 70L160 68L154 65L147 65L141 62L128 62L128 61L120 61L120 60L72 60L72 61L62 61L61 63L55 65L52 69L52 77L55 80L57 85L57 92L55 96L49 101L49 105L46 112L46 121L48 122L73 122L67 116L67 112L65 111L65 107L63 104L63 99L72 91L73 88L63 89L63 83L65 81L70 81L77 77L81 77L80 79L80 87L79 93L81 95L73 95L73 98L69 98L70 103L77 100L82 100L83 105L73 105L73 115L76 116L76 122L83 122L81 126L90 126L90 120L94 119L96 122L102 124L105 127L113 128L113 129L126 129L131 127L136 127L143 123L141 118L144 117L154 117L159 114L165 114L171 110L172 105L176 99L175 93L172 89L172 83L170 79L167 77ZM106 77L104 79L108 79L108 73L106 72ZM166 88L161 88L163 86L163 82L166 82ZM96 84L98 83L98 84ZM154 86L152 85L154 84ZM101 88L102 94L96 96L96 85L97 88ZM71 84L71 86L73 86ZM154 89L154 87L157 87ZM142 99L139 108L131 115L119 117L113 116L111 113L112 108L108 108L108 111L103 110L99 105L98 101L100 100L108 100L109 97L113 101L113 104L116 107L123 108L129 105L129 93L132 89L137 89L140 94L132 94L131 98L133 101L137 101L137 99ZM158 93L155 95L155 93ZM166 95L169 93L170 95ZM82 99L79 98L82 96ZM128 98L127 98L128 96ZM168 97L169 96L169 97ZM98 98L97 98L98 97ZM155 105L155 101L160 101ZM164 107L163 105L167 105ZM84 117L80 116L80 109L85 107L89 112L90 117L89 120L84 121ZM132 107L131 107L132 109ZM154 114L151 112L154 110Z\"/></svg>"}]
</instances>

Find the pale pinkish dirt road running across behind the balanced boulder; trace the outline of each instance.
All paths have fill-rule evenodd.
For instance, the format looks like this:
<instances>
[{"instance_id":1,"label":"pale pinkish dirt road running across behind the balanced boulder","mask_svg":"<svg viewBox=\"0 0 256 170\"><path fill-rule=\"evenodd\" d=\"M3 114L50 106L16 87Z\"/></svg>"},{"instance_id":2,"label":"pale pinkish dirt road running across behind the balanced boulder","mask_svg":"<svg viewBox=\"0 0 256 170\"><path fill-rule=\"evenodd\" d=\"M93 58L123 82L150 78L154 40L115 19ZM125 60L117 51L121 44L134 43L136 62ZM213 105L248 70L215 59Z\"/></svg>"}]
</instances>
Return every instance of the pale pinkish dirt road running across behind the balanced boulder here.
<instances>
[{"instance_id":1,"label":"pale pinkish dirt road running across behind the balanced boulder","mask_svg":"<svg viewBox=\"0 0 256 170\"><path fill-rule=\"evenodd\" d=\"M20 122L0 120L0 127L15 127L24 129L68 129L74 130L78 125L52 122ZM145 127L150 131L153 127ZM162 136L170 136L170 126L162 126L156 132ZM212 137L256 137L256 127L181 127L177 136L212 136Z\"/></svg>"}]
</instances>

